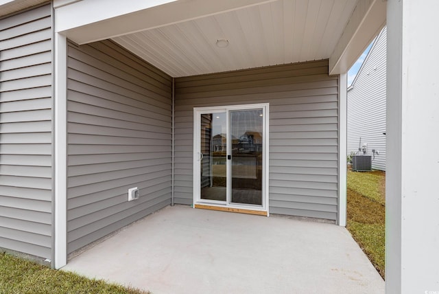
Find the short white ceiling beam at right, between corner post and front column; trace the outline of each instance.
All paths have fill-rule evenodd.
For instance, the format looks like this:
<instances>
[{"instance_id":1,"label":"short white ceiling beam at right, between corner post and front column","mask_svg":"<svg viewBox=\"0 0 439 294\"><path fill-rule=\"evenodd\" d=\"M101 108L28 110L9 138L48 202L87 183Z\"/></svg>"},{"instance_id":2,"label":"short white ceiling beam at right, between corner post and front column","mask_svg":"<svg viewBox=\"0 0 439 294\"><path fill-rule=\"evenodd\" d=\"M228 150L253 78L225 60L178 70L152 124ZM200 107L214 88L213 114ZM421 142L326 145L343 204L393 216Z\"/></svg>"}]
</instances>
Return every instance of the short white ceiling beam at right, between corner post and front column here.
<instances>
[{"instance_id":1,"label":"short white ceiling beam at right, between corner post and front column","mask_svg":"<svg viewBox=\"0 0 439 294\"><path fill-rule=\"evenodd\" d=\"M344 74L385 25L385 0L359 0L329 58L329 74Z\"/></svg>"}]
</instances>

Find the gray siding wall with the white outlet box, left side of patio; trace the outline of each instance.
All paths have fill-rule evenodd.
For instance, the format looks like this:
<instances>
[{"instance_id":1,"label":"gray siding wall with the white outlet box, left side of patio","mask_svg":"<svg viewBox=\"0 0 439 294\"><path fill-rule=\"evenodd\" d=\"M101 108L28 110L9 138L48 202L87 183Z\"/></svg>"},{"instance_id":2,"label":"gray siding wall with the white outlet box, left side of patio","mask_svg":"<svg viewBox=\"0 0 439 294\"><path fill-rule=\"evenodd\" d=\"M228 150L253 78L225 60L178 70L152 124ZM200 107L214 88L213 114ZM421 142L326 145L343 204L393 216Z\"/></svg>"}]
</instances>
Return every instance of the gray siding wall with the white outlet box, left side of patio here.
<instances>
[{"instance_id":1,"label":"gray siding wall with the white outlet box, left side of patio","mask_svg":"<svg viewBox=\"0 0 439 294\"><path fill-rule=\"evenodd\" d=\"M67 67L71 253L171 203L171 78L112 41L69 43Z\"/></svg>"}]
</instances>

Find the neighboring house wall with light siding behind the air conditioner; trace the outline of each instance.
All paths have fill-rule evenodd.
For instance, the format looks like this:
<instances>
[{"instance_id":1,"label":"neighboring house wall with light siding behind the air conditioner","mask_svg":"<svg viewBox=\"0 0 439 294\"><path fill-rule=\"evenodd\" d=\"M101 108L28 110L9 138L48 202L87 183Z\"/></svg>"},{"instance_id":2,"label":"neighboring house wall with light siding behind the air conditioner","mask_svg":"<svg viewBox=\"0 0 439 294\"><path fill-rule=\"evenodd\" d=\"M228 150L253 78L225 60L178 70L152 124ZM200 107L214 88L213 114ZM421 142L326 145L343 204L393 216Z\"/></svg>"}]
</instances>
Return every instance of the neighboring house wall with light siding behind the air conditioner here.
<instances>
[{"instance_id":1,"label":"neighboring house wall with light siding behind the air conditioner","mask_svg":"<svg viewBox=\"0 0 439 294\"><path fill-rule=\"evenodd\" d=\"M348 155L366 144L376 170L385 170L386 36L384 27L348 88Z\"/></svg>"}]
</instances>

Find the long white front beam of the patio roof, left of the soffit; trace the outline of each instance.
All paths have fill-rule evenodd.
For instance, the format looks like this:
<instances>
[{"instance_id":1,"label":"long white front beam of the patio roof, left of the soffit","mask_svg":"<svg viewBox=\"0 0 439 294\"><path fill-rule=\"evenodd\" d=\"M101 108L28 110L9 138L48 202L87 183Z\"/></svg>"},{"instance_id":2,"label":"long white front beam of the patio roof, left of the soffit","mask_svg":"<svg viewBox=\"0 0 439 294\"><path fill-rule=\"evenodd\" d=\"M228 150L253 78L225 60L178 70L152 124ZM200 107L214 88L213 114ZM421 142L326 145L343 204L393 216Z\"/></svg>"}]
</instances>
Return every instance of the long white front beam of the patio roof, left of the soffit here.
<instances>
[{"instance_id":1,"label":"long white front beam of the patio roof, left of the soffit","mask_svg":"<svg viewBox=\"0 0 439 294\"><path fill-rule=\"evenodd\" d=\"M55 30L81 45L272 1L82 0L55 8Z\"/></svg>"}]
</instances>

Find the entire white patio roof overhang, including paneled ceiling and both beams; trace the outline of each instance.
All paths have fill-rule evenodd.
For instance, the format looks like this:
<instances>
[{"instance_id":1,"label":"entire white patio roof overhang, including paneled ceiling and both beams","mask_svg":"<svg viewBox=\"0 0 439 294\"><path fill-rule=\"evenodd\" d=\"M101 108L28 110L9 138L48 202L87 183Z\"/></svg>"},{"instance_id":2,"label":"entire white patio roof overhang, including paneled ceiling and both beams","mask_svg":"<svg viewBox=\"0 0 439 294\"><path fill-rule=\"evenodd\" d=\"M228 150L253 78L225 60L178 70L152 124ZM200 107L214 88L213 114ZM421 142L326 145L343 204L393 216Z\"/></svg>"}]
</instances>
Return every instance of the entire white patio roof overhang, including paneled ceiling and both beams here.
<instances>
[{"instance_id":1,"label":"entire white patio roof overhang, including paneled ceiling and both beams","mask_svg":"<svg viewBox=\"0 0 439 294\"><path fill-rule=\"evenodd\" d=\"M111 38L181 77L320 59L330 60L330 74L346 73L385 25L386 3L55 0L54 8L56 32L71 41Z\"/></svg>"}]
</instances>

